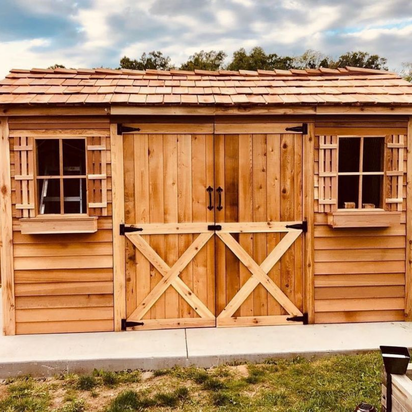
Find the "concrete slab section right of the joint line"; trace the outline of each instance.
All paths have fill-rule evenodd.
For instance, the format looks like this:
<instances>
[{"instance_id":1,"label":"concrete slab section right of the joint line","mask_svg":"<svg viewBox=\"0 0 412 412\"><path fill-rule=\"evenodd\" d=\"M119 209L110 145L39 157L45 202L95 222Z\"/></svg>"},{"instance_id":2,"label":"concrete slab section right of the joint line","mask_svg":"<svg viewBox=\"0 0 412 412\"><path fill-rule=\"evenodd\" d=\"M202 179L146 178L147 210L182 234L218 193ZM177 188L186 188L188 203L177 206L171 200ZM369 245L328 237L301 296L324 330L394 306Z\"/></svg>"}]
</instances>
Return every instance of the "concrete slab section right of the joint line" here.
<instances>
[{"instance_id":1,"label":"concrete slab section right of the joint line","mask_svg":"<svg viewBox=\"0 0 412 412\"><path fill-rule=\"evenodd\" d=\"M189 363L199 366L270 357L361 352L412 346L412 323L342 323L187 329Z\"/></svg>"}]
</instances>

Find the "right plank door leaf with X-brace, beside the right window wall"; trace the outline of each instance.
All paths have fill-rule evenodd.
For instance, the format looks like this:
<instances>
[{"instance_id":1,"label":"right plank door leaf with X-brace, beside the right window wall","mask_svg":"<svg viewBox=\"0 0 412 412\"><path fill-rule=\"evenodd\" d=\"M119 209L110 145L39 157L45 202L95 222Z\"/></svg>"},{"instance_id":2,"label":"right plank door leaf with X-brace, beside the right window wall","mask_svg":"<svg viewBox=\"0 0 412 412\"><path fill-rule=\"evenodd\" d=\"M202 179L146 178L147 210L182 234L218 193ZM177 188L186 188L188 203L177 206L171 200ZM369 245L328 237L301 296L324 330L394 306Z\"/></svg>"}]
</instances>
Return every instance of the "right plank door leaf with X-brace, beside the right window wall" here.
<instances>
[{"instance_id":1,"label":"right plank door leaf with X-brace, beside the right window wall","mask_svg":"<svg viewBox=\"0 0 412 412\"><path fill-rule=\"evenodd\" d=\"M215 134L217 326L303 323L302 134Z\"/></svg>"}]
</instances>

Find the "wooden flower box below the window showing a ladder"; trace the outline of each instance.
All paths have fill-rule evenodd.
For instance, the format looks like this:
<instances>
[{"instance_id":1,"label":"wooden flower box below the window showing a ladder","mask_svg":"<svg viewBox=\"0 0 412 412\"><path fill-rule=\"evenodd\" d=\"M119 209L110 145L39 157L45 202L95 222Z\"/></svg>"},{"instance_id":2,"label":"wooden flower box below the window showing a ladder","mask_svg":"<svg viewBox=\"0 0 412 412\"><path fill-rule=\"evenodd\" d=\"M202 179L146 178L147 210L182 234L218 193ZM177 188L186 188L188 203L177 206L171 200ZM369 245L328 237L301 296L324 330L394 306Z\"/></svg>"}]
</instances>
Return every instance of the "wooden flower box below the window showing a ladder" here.
<instances>
[{"instance_id":1,"label":"wooden flower box below the window showing a ladder","mask_svg":"<svg viewBox=\"0 0 412 412\"><path fill-rule=\"evenodd\" d=\"M96 216L36 216L19 219L22 234L94 233Z\"/></svg>"}]
</instances>

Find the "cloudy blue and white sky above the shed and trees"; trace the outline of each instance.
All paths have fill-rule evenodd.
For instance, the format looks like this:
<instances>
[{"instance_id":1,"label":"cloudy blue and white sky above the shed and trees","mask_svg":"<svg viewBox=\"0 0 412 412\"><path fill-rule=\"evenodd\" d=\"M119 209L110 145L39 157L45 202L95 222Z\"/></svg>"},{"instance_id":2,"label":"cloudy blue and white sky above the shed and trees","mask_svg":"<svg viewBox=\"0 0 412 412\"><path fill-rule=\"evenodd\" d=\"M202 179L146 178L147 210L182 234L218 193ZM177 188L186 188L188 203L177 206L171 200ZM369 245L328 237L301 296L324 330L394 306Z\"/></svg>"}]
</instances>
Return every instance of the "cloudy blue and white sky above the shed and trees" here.
<instances>
[{"instance_id":1,"label":"cloudy blue and white sky above the shed and trees","mask_svg":"<svg viewBox=\"0 0 412 412\"><path fill-rule=\"evenodd\" d=\"M412 61L410 0L1 0L0 76L10 68L116 67L161 50L179 64L201 49L262 46L297 55L364 50Z\"/></svg>"}]
</instances>

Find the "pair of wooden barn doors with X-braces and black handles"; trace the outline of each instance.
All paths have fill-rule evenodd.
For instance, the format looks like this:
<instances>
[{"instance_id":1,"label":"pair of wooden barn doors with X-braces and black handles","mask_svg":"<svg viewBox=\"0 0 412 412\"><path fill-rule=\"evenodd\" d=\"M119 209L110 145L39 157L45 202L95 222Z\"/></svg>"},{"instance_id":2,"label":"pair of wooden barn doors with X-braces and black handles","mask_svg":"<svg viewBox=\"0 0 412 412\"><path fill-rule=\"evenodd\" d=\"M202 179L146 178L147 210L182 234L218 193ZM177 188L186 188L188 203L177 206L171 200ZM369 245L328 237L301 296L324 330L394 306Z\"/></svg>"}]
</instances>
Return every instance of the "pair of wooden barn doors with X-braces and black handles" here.
<instances>
[{"instance_id":1,"label":"pair of wooden barn doors with X-braces and black handles","mask_svg":"<svg viewBox=\"0 0 412 412\"><path fill-rule=\"evenodd\" d=\"M126 321L302 322L302 134L124 134Z\"/></svg>"}]
</instances>

